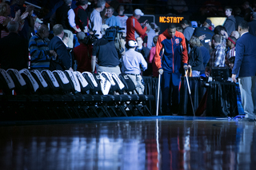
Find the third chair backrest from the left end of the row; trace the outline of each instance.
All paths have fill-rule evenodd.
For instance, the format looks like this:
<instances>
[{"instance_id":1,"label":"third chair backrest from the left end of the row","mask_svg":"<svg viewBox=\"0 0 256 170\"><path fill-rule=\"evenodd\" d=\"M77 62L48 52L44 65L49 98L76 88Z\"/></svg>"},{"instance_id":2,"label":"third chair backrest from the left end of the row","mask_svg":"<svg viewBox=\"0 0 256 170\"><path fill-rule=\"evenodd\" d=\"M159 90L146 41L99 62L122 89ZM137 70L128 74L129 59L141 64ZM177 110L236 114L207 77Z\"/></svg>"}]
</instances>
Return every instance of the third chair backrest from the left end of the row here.
<instances>
[{"instance_id":1,"label":"third chair backrest from the left end of the row","mask_svg":"<svg viewBox=\"0 0 256 170\"><path fill-rule=\"evenodd\" d=\"M38 85L38 82L35 81L30 71L28 69L21 69L19 73L22 75L23 79L26 81L26 85L28 87L26 93L27 94L37 93L39 89L39 85Z\"/></svg>"}]
</instances>

